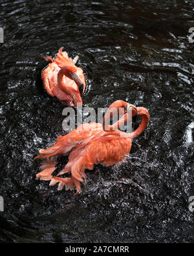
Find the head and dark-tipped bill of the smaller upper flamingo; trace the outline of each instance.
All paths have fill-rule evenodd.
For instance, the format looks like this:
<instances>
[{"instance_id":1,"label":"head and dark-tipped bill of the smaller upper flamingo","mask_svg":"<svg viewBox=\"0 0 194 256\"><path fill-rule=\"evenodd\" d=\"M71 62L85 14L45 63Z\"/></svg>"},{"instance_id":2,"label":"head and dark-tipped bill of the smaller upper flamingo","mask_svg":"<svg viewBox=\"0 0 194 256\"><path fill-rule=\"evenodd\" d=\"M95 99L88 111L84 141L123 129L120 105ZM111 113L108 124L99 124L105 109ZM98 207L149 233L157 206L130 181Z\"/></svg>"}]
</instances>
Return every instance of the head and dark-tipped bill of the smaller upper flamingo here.
<instances>
[{"instance_id":1,"label":"head and dark-tipped bill of the smaller upper flamingo","mask_svg":"<svg viewBox=\"0 0 194 256\"><path fill-rule=\"evenodd\" d=\"M61 71L65 76L76 82L80 95L82 95L84 86L83 81L81 81L81 78L78 75L78 69L74 65L63 65L63 67L61 67Z\"/></svg>"}]
</instances>

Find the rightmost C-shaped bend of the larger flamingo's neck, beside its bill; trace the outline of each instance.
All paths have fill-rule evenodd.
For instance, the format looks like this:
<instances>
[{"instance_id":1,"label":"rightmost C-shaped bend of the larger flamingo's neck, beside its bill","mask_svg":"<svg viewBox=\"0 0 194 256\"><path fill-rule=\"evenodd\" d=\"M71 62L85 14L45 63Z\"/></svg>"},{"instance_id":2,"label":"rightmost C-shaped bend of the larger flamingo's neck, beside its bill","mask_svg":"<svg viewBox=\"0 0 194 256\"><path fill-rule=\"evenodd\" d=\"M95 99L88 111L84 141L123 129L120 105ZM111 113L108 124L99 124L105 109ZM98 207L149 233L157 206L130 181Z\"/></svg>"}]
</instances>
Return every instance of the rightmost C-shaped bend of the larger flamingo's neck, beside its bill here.
<instances>
[{"instance_id":1,"label":"rightmost C-shaped bend of the larger flamingo's neck, beside its bill","mask_svg":"<svg viewBox=\"0 0 194 256\"><path fill-rule=\"evenodd\" d=\"M127 135L127 137L130 137L131 139L142 134L142 132L146 130L147 124L149 122L149 112L147 111L147 109L139 107L137 108L137 110L138 110L138 116L142 117L142 122L134 132L131 132L130 134Z\"/></svg>"}]
</instances>

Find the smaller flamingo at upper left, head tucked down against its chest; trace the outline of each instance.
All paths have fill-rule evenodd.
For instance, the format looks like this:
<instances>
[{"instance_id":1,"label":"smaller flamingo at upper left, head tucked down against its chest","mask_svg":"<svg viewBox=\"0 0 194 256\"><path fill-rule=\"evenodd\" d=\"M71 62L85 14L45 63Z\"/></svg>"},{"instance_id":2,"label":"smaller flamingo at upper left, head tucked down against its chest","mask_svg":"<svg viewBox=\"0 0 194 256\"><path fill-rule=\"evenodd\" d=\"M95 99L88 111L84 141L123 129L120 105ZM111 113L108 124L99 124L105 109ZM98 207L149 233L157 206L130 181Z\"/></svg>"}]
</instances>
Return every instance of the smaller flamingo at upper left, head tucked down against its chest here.
<instances>
[{"instance_id":1,"label":"smaller flamingo at upper left, head tucked down against its chest","mask_svg":"<svg viewBox=\"0 0 194 256\"><path fill-rule=\"evenodd\" d=\"M43 86L48 95L56 96L67 106L81 106L81 95L85 91L85 76L80 67L76 67L79 56L73 60L69 58L67 52L62 52L61 47L56 54L56 58L43 56L45 60L50 60L47 68L42 71Z\"/></svg>"}]
</instances>

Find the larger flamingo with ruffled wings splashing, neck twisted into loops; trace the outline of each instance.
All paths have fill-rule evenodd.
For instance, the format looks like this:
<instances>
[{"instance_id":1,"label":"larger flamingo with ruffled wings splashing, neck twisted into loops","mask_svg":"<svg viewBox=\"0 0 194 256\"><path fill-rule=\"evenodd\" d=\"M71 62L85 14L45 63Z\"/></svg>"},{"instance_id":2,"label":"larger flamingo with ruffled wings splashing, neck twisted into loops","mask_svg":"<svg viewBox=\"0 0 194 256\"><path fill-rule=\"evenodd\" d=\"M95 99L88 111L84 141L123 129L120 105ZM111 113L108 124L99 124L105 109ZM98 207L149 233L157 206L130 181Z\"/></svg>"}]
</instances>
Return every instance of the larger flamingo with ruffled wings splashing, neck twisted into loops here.
<instances>
[{"instance_id":1,"label":"larger flamingo with ruffled wings splashing, neck twisted into loops","mask_svg":"<svg viewBox=\"0 0 194 256\"><path fill-rule=\"evenodd\" d=\"M111 114L111 110L113 111ZM119 108L124 108L124 115L113 125L107 124L107 119L118 114ZM140 126L129 134L117 130L126 121L129 121L129 109L132 116L142 117ZM76 194L81 191L80 182L85 181L85 169L92 170L94 165L101 164L105 167L118 165L125 161L125 157L131 150L132 139L141 134L149 122L149 112L146 108L128 104L122 100L116 100L109 106L103 117L103 124L96 122L81 124L78 128L65 136L59 136L54 146L46 150L39 150L37 158L44 158L41 164L41 172L36 174L36 179L50 180L50 186L58 183L58 190L65 188L76 189ZM56 169L56 161L53 156L69 154L69 162L57 176L52 176ZM62 174L68 173L69 177L61 178Z\"/></svg>"}]
</instances>

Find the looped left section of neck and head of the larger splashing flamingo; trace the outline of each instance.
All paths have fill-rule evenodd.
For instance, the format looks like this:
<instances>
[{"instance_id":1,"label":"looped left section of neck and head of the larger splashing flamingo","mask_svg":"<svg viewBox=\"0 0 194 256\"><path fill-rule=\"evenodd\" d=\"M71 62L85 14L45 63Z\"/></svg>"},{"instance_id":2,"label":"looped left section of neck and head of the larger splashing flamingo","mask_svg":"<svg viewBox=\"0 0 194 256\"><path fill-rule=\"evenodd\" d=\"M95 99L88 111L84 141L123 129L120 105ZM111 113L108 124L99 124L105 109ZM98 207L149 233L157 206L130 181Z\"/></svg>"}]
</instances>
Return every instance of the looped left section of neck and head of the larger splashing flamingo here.
<instances>
[{"instance_id":1,"label":"looped left section of neck and head of the larger splashing flamingo","mask_svg":"<svg viewBox=\"0 0 194 256\"><path fill-rule=\"evenodd\" d=\"M123 126L127 121L131 121L131 117L136 115L136 110L133 108L131 109L132 115L130 113L124 113L125 107L127 106L127 103L122 100L117 100L116 102L113 102L111 106L109 106L107 112L105 113L103 117L103 130L105 132L113 132L115 130L118 130L121 126ZM114 116L122 115L122 117L114 122L113 125L109 125L109 121Z\"/></svg>"}]
</instances>

